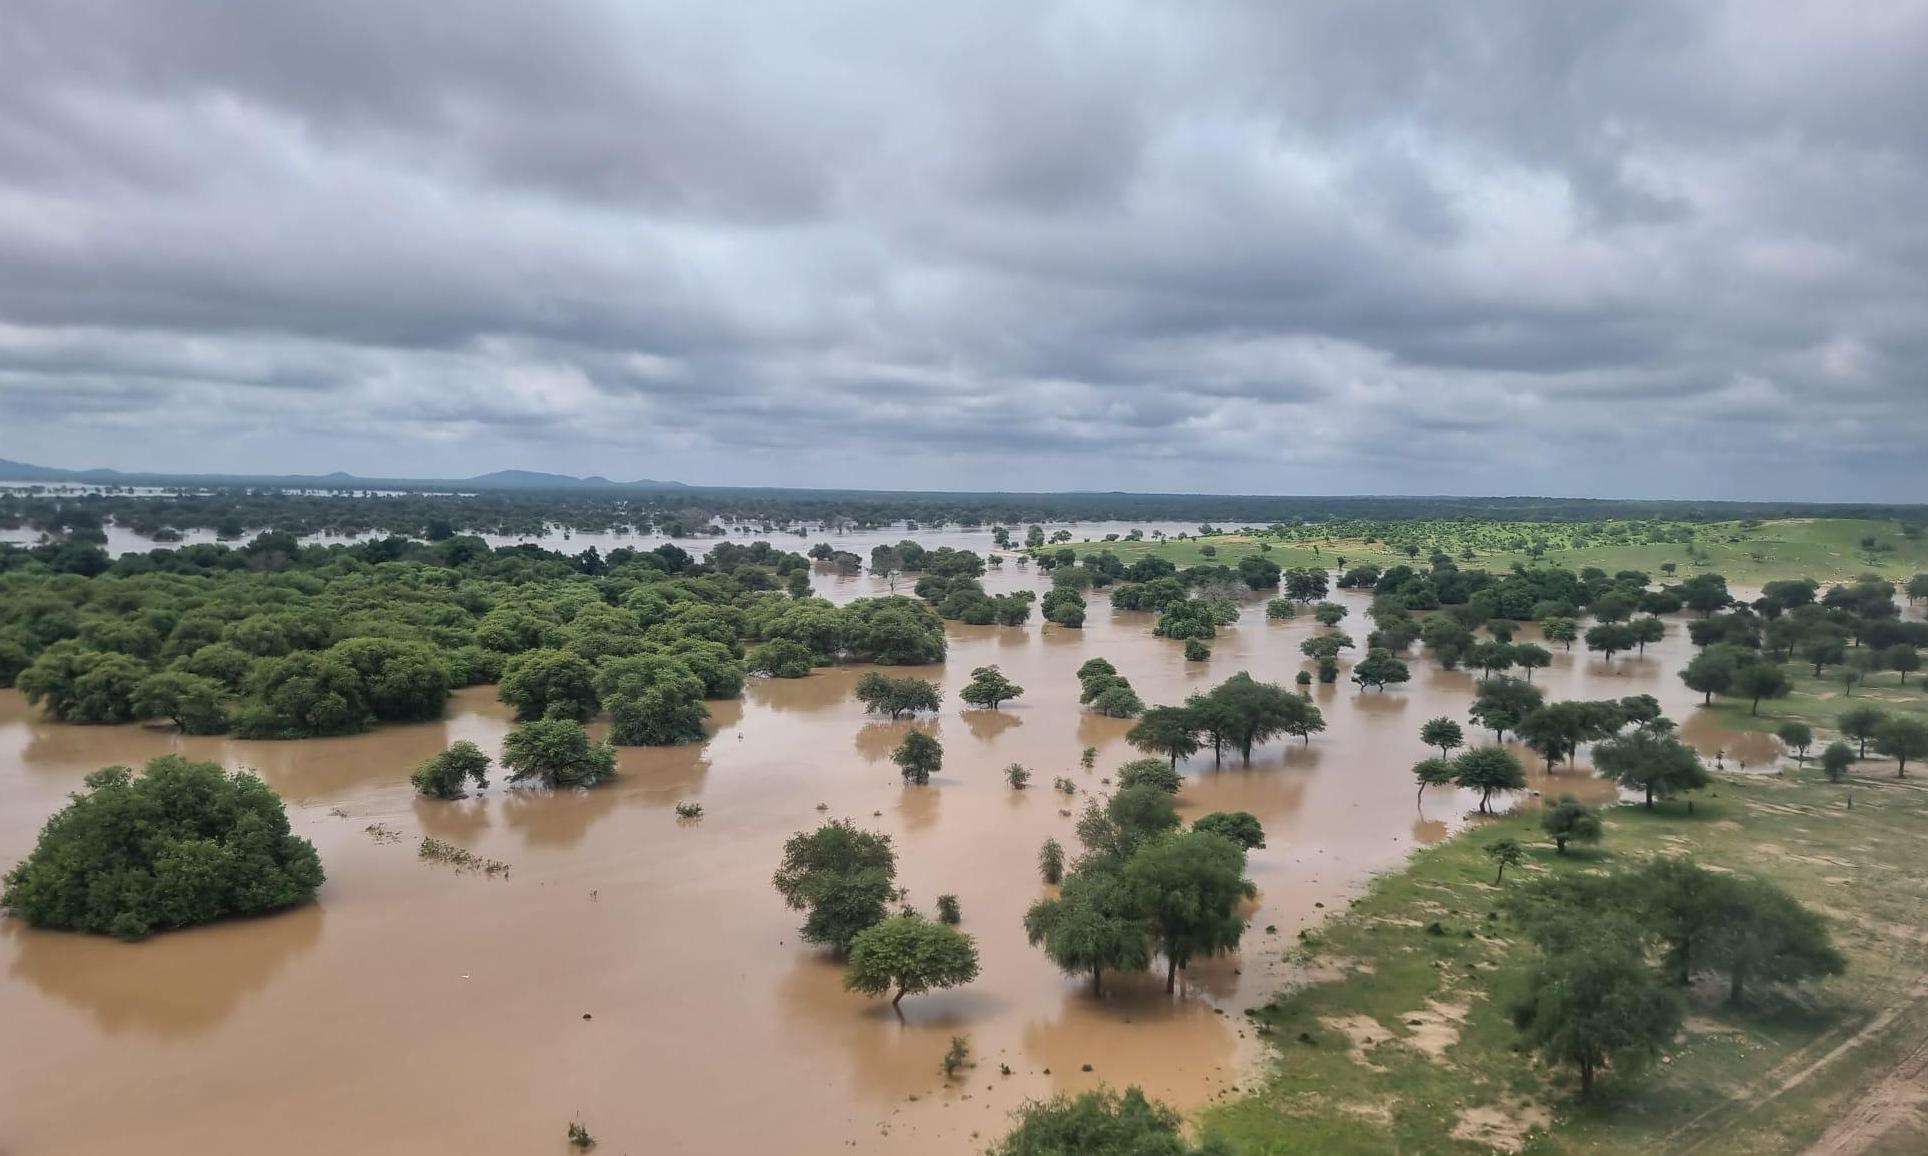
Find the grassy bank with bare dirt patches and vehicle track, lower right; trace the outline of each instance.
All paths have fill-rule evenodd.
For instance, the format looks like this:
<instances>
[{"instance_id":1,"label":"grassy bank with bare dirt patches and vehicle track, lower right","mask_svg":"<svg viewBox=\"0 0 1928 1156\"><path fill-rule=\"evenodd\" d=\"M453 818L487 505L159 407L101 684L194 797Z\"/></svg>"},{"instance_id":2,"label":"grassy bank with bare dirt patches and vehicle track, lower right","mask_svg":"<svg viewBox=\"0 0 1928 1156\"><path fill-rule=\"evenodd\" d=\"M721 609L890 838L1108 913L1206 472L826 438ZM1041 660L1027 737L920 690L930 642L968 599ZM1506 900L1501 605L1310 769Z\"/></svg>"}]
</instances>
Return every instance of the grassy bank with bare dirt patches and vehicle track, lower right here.
<instances>
[{"instance_id":1,"label":"grassy bank with bare dirt patches and vehicle track, lower right","mask_svg":"<svg viewBox=\"0 0 1928 1156\"><path fill-rule=\"evenodd\" d=\"M1859 697L1859 696L1857 696ZM1745 709L1745 707L1743 707ZM1853 790L1853 809L1847 807ZM1276 1062L1201 1125L1240 1152L1797 1152L1928 1029L1928 888L1918 840L1928 790L1816 771L1720 776L1695 813L1616 807L1596 852L1556 855L1537 811L1419 852L1294 952L1309 986L1253 1021ZM1485 846L1513 836L1529 861L1494 886ZM1847 975L1729 1010L1695 992L1687 1031L1645 1075L1579 1102L1566 1071L1521 1052L1508 1006L1529 948L1502 896L1552 871L1656 854L1766 875L1824 911ZM1371 1042L1367 1042L1371 1040ZM1922 1150L1903 1123L1882 1150Z\"/></svg>"}]
</instances>

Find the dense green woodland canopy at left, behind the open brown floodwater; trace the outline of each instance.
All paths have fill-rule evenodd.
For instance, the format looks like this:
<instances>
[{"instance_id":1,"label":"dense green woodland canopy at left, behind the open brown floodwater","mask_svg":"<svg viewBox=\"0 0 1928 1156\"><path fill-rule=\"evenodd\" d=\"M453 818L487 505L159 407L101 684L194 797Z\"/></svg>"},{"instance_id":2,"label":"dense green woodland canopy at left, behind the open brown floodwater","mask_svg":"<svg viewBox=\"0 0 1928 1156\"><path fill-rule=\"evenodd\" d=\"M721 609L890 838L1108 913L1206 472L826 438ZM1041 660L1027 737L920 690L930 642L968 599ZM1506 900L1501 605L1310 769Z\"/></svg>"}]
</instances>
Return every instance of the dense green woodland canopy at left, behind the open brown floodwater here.
<instances>
[{"instance_id":1,"label":"dense green woodland canopy at left, behind the open brown floodwater","mask_svg":"<svg viewBox=\"0 0 1928 1156\"><path fill-rule=\"evenodd\" d=\"M0 570L0 684L67 722L168 719L249 738L436 719L495 682L519 721L607 713L617 744L704 736L746 672L939 663L912 597L810 597L808 559L765 541L696 563L663 545L565 555L476 538L305 547L264 534L58 572Z\"/></svg>"}]
</instances>

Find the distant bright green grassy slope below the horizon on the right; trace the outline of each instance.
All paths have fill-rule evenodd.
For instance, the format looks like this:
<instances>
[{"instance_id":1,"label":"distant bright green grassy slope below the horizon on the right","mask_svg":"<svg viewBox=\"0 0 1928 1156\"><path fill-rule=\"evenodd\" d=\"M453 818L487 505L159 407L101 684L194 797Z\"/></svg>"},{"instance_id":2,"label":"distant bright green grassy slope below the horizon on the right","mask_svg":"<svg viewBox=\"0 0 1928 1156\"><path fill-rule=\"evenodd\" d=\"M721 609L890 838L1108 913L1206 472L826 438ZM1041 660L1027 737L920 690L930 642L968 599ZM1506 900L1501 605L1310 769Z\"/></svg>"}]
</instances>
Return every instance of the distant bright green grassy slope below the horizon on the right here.
<instances>
[{"instance_id":1,"label":"distant bright green grassy slope below the horizon on the right","mask_svg":"<svg viewBox=\"0 0 1928 1156\"><path fill-rule=\"evenodd\" d=\"M1328 536L1330 534L1330 536ZM1371 541L1367 541L1371 538ZM1539 553L1535 557L1535 543ZM1872 545L1864 545L1872 543ZM1280 566L1425 563L1433 551L1461 566L1506 570L1515 563L1550 563L1581 570L1645 570L1662 578L1724 574L1735 586L1774 578L1837 582L1864 572L1909 578L1928 570L1928 538L1911 538L1893 520L1789 518L1780 522L1332 522L1284 528L1282 534L1215 534L1166 541L1072 541L1082 555L1111 549L1124 561L1161 555L1180 566L1205 561L1234 565L1271 545ZM1213 549L1207 555L1205 549ZM1057 549L1057 547L1045 547ZM1407 551L1415 549L1417 557ZM1471 557L1467 557L1471 555Z\"/></svg>"}]
</instances>

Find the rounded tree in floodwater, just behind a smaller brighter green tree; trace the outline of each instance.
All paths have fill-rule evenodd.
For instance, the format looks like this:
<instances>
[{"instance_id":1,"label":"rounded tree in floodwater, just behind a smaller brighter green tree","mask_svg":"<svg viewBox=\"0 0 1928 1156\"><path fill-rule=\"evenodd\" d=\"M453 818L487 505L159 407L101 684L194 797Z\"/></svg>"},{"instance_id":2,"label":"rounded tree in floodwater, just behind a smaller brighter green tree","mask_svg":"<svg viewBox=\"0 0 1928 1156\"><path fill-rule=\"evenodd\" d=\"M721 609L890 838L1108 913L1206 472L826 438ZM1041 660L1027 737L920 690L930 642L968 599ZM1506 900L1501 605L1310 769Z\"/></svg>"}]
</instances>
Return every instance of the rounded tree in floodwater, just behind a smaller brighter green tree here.
<instances>
[{"instance_id":1,"label":"rounded tree in floodwater, just behind a smaller brighter green tree","mask_svg":"<svg viewBox=\"0 0 1928 1156\"><path fill-rule=\"evenodd\" d=\"M833 819L783 844L771 882L792 911L806 913L804 942L846 952L897 898L897 852L891 836Z\"/></svg>"}]
</instances>

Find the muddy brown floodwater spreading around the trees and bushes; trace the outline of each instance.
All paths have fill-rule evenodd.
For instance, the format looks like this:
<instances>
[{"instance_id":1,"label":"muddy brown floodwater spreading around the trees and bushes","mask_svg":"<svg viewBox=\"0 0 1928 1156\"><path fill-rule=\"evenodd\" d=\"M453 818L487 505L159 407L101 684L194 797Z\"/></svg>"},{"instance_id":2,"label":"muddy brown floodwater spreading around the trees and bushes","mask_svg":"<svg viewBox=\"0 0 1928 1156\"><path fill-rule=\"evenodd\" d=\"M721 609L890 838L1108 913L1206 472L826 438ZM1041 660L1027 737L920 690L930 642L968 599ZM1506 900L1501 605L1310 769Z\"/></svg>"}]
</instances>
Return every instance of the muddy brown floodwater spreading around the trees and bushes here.
<instances>
[{"instance_id":1,"label":"muddy brown floodwater spreading around the trees and bushes","mask_svg":"<svg viewBox=\"0 0 1928 1156\"><path fill-rule=\"evenodd\" d=\"M987 584L1031 580L1006 568ZM875 590L817 584L837 599ZM1367 599L1340 601L1363 636ZM1309 746L1217 771L1193 757L1188 819L1244 809L1265 823L1245 948L1195 963L1176 998L1153 973L1095 1000L1022 929L1043 894L1039 844L1074 848L1068 813L1134 757L1128 722L1078 707L1074 670L1109 657L1145 701L1168 703L1236 670L1290 682L1313 630L1309 617L1267 622L1255 599L1209 663L1186 663L1147 615L1112 615L1103 595L1082 632L952 626L949 663L912 670L945 688L945 769L925 788L902 786L887 759L908 724L852 701L862 669L754 680L742 701L713 703L706 744L625 748L623 776L602 790L497 784L455 803L416 800L407 771L457 738L497 749L509 717L492 688L461 692L438 724L289 744L62 726L0 692L0 863L31 850L87 771L181 751L256 769L328 869L318 904L143 944L0 923L0 1152L561 1152L571 1119L607 1152L976 1152L1022 1100L1058 1090L1139 1083L1199 1106L1261 1060L1242 1013L1282 981L1319 904L1342 906L1469 821L1469 794L1431 790L1415 805L1409 767L1427 753L1425 719L1465 721L1471 676L1415 659L1404 690L1315 690L1328 730ZM1770 740L1697 719L1674 674L1689 649L1674 620L1645 657L1608 667L1556 651L1535 682L1554 697L1654 694L1700 749L1768 759ZM1026 696L960 709L983 663ZM1078 769L1085 746L1099 748L1095 773ZM1008 763L1033 771L1030 790L1004 784ZM1051 790L1058 775L1076 800ZM1585 763L1554 778L1533 786L1610 796ZM679 821L683 800L704 817ZM977 983L908 998L897 1017L846 994L837 963L798 942L769 875L783 840L825 817L889 832L912 904L958 894ZM403 838L368 834L376 823ZM418 861L422 834L511 871ZM977 1065L947 1083L952 1035L970 1037Z\"/></svg>"}]
</instances>

